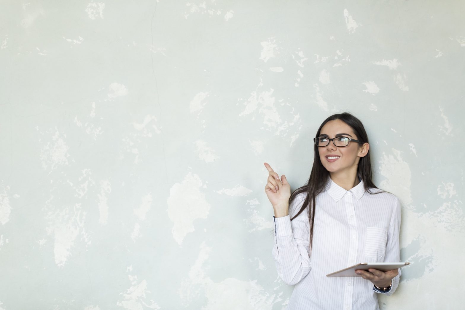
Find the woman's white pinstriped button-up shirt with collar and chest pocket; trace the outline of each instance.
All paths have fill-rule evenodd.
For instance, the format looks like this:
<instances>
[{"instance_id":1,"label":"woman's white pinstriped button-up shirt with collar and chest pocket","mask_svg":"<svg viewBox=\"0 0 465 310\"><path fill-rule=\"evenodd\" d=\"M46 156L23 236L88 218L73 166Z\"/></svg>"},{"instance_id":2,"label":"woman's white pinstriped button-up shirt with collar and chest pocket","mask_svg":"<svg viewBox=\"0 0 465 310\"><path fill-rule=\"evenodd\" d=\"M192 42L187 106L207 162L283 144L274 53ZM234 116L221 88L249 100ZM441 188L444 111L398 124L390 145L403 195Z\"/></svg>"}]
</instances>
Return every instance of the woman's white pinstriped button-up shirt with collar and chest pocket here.
<instances>
[{"instance_id":1,"label":"woman's white pinstriped button-up shirt with collar and chest pocket","mask_svg":"<svg viewBox=\"0 0 465 310\"><path fill-rule=\"evenodd\" d=\"M360 178L359 178L360 179ZM380 189L370 189L372 193ZM309 207L292 221L306 193L289 206L289 215L274 217L272 255L279 277L294 285L287 310L378 310L380 292L359 276L327 277L356 263L399 262L400 201L390 193L365 192L364 183L345 190L330 177L317 195L312 253L309 251Z\"/></svg>"}]
</instances>

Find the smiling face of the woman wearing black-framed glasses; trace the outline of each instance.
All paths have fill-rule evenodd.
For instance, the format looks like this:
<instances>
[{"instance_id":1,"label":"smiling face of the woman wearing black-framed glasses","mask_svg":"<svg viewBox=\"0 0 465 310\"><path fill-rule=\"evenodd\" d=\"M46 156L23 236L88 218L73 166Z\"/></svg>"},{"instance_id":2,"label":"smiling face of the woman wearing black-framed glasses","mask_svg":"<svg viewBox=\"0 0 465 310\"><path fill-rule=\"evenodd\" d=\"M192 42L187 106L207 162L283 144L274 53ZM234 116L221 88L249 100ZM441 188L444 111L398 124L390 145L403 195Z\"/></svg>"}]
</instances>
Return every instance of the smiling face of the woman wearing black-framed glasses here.
<instances>
[{"instance_id":1,"label":"smiling face of the woman wearing black-framed glasses","mask_svg":"<svg viewBox=\"0 0 465 310\"><path fill-rule=\"evenodd\" d=\"M326 136L331 139L336 135L359 140L359 137L353 133L352 128L341 120L328 121L321 128L319 136ZM352 169L357 171L360 157L365 156L369 148L368 143L364 143L363 146L362 148L360 143L351 141L345 147L337 147L331 141L326 147L318 147L319 157L323 166L331 173L349 172ZM339 158L330 161L327 158L328 155L339 156Z\"/></svg>"}]
</instances>

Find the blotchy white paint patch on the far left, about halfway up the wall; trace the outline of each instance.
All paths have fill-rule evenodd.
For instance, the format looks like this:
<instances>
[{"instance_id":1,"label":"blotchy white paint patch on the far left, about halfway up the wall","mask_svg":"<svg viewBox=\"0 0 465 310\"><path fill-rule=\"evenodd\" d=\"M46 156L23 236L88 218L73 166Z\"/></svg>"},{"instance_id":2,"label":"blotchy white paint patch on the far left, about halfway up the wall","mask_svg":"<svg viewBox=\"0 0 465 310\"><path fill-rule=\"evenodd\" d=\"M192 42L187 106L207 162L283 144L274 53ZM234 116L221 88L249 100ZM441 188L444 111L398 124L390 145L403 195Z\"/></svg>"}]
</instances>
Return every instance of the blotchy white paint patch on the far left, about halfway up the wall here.
<instances>
[{"instance_id":1,"label":"blotchy white paint patch on the far left, about halfway up the wall","mask_svg":"<svg viewBox=\"0 0 465 310\"><path fill-rule=\"evenodd\" d=\"M40 149L40 159L42 161L42 168L46 169L51 166L51 169L56 169L58 166L68 164L69 147L61 139L58 129L55 127L55 134L52 137L52 142L47 142L46 146ZM47 131L49 133L49 131ZM63 134L66 138L66 135ZM40 141L40 140L39 140Z\"/></svg>"}]
</instances>

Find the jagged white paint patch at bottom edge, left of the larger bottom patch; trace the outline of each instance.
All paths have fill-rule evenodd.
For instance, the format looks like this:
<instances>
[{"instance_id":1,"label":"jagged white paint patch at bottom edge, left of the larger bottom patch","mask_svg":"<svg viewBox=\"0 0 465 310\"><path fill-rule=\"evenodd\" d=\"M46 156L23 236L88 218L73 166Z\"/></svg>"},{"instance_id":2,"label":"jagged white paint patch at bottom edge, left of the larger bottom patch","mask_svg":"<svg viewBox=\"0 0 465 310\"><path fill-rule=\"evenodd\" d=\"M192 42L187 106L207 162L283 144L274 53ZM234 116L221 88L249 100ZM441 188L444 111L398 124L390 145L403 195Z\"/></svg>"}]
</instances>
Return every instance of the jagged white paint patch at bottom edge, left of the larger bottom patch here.
<instances>
[{"instance_id":1,"label":"jagged white paint patch at bottom edge, left of the larger bottom patch","mask_svg":"<svg viewBox=\"0 0 465 310\"><path fill-rule=\"evenodd\" d=\"M142 280L138 283L137 276L130 275L128 277L132 286L125 293L120 293L124 297L124 300L118 301L116 305L127 310L160 309L160 306L153 300L150 300L150 302L147 301L146 294L149 295L151 293L150 290L147 290L147 281Z\"/></svg>"}]
</instances>

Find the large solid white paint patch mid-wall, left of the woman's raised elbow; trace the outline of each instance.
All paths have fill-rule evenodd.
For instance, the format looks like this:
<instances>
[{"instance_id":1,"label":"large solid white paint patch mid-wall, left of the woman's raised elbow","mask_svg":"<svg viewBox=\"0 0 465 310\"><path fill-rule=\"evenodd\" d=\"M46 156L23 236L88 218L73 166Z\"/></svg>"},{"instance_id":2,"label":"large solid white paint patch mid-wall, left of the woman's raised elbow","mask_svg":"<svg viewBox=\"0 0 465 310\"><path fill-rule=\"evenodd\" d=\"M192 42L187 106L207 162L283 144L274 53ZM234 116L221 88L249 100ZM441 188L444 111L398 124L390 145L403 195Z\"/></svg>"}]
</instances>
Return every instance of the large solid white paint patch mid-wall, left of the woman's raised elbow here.
<instances>
[{"instance_id":1,"label":"large solid white paint patch mid-wall, left of the woman's raised elbow","mask_svg":"<svg viewBox=\"0 0 465 310\"><path fill-rule=\"evenodd\" d=\"M184 237L193 232L193 222L199 218L207 218L211 205L205 200L206 188L198 175L189 172L184 180L175 183L168 197L168 217L173 222L173 238L181 245Z\"/></svg>"}]
</instances>

